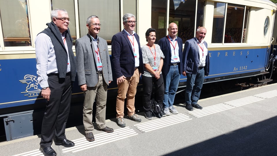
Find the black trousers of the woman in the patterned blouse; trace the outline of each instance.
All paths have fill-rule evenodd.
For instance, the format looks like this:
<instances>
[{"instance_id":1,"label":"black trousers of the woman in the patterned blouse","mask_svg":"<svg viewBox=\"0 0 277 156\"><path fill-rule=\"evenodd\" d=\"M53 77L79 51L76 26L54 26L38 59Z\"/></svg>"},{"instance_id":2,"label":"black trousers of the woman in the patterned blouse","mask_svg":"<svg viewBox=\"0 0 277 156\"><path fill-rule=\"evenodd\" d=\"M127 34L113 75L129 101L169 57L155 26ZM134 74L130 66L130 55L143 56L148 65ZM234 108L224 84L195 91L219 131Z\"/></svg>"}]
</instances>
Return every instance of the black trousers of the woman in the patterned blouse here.
<instances>
[{"instance_id":1,"label":"black trousers of the woman in the patterned blouse","mask_svg":"<svg viewBox=\"0 0 277 156\"><path fill-rule=\"evenodd\" d=\"M155 77L146 77L141 76L143 83L143 109L145 113L150 112L150 99L152 94L152 86L154 83L155 93L154 99L158 102L162 107L162 101L164 99L164 80L162 74L160 74L160 78L157 80Z\"/></svg>"}]
</instances>

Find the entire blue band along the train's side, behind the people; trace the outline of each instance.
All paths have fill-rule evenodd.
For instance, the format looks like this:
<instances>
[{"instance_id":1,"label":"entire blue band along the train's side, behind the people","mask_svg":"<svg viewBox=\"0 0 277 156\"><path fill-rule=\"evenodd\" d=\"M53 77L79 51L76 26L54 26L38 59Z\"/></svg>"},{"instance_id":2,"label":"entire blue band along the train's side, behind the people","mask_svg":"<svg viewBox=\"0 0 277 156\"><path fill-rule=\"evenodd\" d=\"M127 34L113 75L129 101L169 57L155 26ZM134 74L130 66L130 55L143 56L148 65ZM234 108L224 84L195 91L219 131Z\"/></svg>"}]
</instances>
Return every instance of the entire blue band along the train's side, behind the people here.
<instances>
[{"instance_id":1,"label":"entire blue band along the train's side, behind the people","mask_svg":"<svg viewBox=\"0 0 277 156\"><path fill-rule=\"evenodd\" d=\"M209 51L209 55L210 74L205 78L216 78L264 71L267 49L215 50ZM35 58L0 60L0 65L0 109L45 102L40 96ZM113 96L112 93L117 90L116 78L113 77L113 80L108 87L108 96ZM186 77L181 75L180 82L185 81ZM82 95L77 82L74 83L72 93L73 97Z\"/></svg>"}]
</instances>

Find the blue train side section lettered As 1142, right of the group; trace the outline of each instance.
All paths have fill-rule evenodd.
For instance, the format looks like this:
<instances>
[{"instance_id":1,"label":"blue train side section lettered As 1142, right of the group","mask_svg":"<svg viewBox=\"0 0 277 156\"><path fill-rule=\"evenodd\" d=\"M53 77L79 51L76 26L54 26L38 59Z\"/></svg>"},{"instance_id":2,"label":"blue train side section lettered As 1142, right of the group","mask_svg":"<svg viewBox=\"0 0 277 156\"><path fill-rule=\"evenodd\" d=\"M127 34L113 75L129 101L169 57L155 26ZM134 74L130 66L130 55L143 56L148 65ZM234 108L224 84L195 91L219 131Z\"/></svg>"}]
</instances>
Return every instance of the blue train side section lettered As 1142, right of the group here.
<instances>
[{"instance_id":1,"label":"blue train side section lettered As 1142, right of the group","mask_svg":"<svg viewBox=\"0 0 277 156\"><path fill-rule=\"evenodd\" d=\"M209 51L210 72L205 78L216 78L265 70L267 48ZM180 82L186 82L181 75Z\"/></svg>"}]
</instances>

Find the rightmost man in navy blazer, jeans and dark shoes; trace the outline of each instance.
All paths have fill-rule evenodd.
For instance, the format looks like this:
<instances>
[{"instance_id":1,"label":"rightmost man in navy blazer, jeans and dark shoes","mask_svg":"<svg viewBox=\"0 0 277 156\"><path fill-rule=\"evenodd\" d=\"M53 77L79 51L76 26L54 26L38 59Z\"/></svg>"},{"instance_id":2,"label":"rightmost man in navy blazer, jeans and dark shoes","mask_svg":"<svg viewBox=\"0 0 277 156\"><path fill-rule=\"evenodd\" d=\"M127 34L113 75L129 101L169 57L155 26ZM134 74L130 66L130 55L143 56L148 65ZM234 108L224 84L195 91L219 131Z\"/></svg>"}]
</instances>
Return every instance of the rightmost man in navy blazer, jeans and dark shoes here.
<instances>
[{"instance_id":1,"label":"rightmost man in navy blazer, jeans and dark shoes","mask_svg":"<svg viewBox=\"0 0 277 156\"><path fill-rule=\"evenodd\" d=\"M195 37L186 41L183 51L183 75L187 76L186 109L190 111L193 110L192 107L202 109L197 102L204 76L209 75L208 44L203 40L206 33L205 27L197 28Z\"/></svg>"}]
</instances>

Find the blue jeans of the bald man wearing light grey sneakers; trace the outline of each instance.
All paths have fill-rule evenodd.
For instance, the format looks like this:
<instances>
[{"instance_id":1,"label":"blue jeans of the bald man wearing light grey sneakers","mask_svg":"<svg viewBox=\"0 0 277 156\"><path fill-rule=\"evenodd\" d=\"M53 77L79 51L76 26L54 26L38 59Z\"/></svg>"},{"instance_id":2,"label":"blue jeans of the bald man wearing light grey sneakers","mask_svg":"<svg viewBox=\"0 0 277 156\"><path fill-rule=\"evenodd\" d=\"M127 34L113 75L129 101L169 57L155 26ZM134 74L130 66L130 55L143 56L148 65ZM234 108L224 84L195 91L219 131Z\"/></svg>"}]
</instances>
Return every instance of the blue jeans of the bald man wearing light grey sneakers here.
<instances>
[{"instance_id":1,"label":"blue jeans of the bald man wearing light grey sneakers","mask_svg":"<svg viewBox=\"0 0 277 156\"><path fill-rule=\"evenodd\" d=\"M163 107L173 106L176 91L178 89L180 73L178 65L171 65L168 74L164 78L164 101Z\"/></svg>"}]
</instances>

